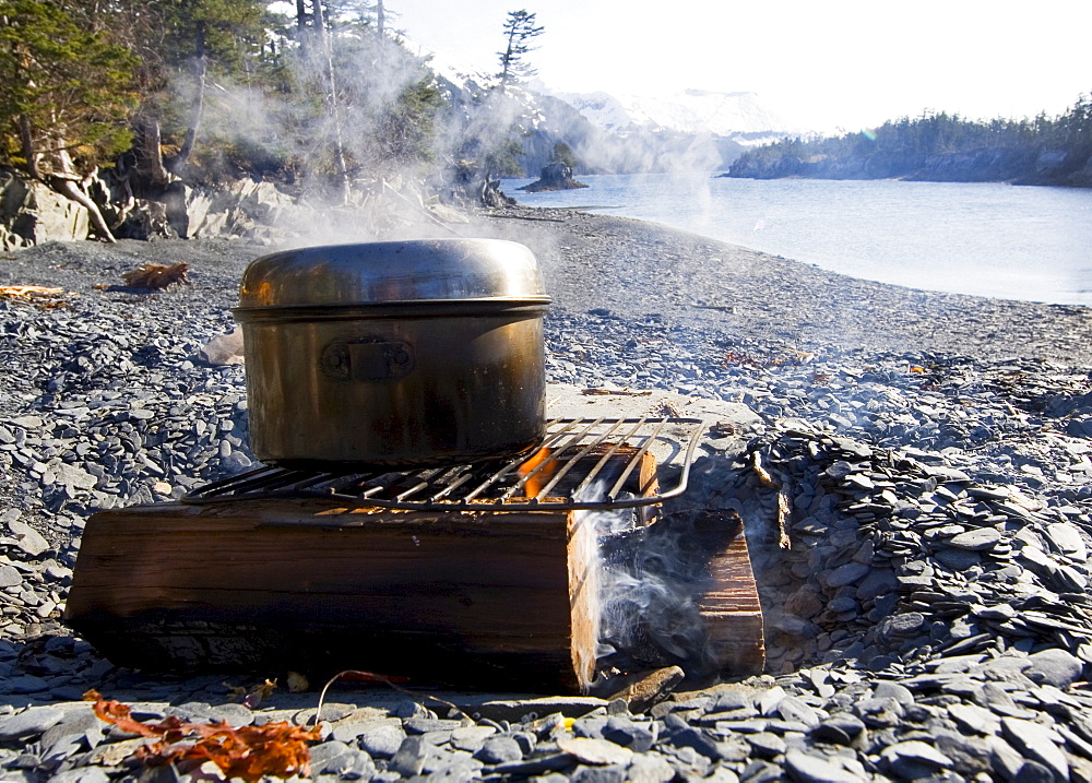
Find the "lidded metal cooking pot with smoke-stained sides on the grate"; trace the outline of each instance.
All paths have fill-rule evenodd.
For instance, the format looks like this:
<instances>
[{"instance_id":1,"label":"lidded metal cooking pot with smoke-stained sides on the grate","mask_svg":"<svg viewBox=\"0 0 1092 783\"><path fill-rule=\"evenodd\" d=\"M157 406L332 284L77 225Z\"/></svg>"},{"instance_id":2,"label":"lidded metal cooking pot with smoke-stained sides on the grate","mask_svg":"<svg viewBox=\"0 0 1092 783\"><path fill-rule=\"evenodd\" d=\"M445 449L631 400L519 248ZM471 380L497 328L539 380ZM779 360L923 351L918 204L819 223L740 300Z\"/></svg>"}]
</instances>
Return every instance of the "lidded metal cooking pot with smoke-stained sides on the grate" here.
<instances>
[{"instance_id":1,"label":"lidded metal cooking pot with smoke-stained sides on the grate","mask_svg":"<svg viewBox=\"0 0 1092 783\"><path fill-rule=\"evenodd\" d=\"M263 462L425 466L545 434L534 254L430 239L265 256L242 276L250 446Z\"/></svg>"}]
</instances>

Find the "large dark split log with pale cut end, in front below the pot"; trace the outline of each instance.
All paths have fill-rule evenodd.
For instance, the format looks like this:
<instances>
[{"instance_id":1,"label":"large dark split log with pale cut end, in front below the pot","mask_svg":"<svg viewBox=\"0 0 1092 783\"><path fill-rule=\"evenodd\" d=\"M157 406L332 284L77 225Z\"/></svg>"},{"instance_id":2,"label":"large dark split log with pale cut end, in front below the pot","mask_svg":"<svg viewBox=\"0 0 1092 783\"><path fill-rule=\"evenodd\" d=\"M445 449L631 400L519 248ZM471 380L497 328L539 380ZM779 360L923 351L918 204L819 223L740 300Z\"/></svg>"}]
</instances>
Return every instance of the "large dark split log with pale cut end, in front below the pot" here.
<instances>
[{"instance_id":1,"label":"large dark split log with pale cut end, in front below the pot","mask_svg":"<svg viewBox=\"0 0 1092 783\"><path fill-rule=\"evenodd\" d=\"M597 586L594 531L579 519L311 499L103 511L66 620L139 668L582 690Z\"/></svg>"}]
</instances>

